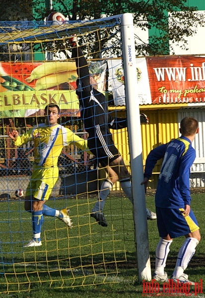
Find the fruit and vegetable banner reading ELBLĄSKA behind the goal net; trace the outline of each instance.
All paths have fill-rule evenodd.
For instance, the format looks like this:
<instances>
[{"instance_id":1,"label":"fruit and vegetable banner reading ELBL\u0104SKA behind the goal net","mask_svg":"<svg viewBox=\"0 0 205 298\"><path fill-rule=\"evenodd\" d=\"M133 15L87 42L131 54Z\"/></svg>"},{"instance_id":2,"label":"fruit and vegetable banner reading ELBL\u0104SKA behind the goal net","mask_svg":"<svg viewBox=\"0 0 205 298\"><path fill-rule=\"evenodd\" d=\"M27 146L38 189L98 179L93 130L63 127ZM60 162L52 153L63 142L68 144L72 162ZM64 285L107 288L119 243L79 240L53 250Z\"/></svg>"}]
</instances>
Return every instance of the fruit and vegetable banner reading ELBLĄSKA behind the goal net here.
<instances>
[{"instance_id":1,"label":"fruit and vegetable banner reading ELBL\u0104SKA behind the goal net","mask_svg":"<svg viewBox=\"0 0 205 298\"><path fill-rule=\"evenodd\" d=\"M106 68L104 62L89 64L101 92ZM49 103L58 104L62 116L80 116L76 79L75 62L0 63L0 118L41 116Z\"/></svg>"}]
</instances>

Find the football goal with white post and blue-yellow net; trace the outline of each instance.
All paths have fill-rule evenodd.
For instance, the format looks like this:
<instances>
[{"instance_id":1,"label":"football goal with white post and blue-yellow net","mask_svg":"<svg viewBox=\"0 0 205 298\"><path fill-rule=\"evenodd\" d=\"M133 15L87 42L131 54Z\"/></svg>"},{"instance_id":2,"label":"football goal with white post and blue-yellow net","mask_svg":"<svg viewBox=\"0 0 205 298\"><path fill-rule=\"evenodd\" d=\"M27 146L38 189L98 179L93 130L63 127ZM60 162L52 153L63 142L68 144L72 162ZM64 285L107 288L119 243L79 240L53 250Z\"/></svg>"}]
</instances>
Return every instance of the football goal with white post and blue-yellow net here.
<instances>
[{"instance_id":1,"label":"football goal with white post and blue-yellow net","mask_svg":"<svg viewBox=\"0 0 205 298\"><path fill-rule=\"evenodd\" d=\"M35 140L16 147L9 132L21 136L42 126L45 107L57 104L60 124L87 139L76 95L73 35L109 113L127 118L128 128L112 133L130 170L134 204L116 184L104 208L108 226L98 224L90 213L106 173L96 156L75 144L66 146L46 205L68 207L73 226L44 216L42 245L25 247L32 238L24 198L32 185ZM0 22L0 55L0 293L119 283L128 264L139 280L151 280L132 14L59 24Z\"/></svg>"}]
</instances>

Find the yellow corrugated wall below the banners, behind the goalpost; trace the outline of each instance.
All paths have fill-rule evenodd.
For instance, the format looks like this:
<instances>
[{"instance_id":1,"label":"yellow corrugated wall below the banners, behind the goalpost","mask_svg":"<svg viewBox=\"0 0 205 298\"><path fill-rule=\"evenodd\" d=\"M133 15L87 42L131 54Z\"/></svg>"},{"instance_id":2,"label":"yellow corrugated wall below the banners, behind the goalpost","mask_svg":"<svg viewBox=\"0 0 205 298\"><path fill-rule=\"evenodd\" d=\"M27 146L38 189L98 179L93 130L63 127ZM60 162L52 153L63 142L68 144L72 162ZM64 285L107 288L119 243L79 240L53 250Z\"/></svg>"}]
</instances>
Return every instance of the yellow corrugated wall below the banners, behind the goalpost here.
<instances>
[{"instance_id":1,"label":"yellow corrugated wall below the banners, behind the goalpost","mask_svg":"<svg viewBox=\"0 0 205 298\"><path fill-rule=\"evenodd\" d=\"M156 146L165 144L173 138L179 136L179 125L177 118L177 110L140 110L140 112L145 113L149 118L149 124L141 125L141 140L142 140L142 156L143 165L145 164L146 156L149 151ZM116 147L121 152L123 159L126 162L130 170L130 155L128 146L128 134L127 129L124 130L113 130L113 140ZM136 132L136 142L139 142L137 132ZM160 170L161 161L158 161L154 167L153 172L157 173ZM151 182L149 182L149 188L156 188L157 185L157 174L153 174L151 177ZM113 190L120 190L119 182L113 187Z\"/></svg>"}]
</instances>

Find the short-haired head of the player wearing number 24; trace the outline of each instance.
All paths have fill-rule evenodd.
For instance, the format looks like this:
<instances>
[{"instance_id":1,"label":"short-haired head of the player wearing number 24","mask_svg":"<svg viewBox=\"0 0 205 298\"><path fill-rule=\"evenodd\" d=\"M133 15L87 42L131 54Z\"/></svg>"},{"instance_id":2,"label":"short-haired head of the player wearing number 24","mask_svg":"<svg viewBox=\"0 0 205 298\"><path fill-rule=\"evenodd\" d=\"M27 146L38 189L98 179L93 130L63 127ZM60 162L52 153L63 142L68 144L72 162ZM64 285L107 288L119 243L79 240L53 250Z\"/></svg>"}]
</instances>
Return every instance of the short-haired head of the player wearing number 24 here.
<instances>
[{"instance_id":1,"label":"short-haired head of the player wearing number 24","mask_svg":"<svg viewBox=\"0 0 205 298\"><path fill-rule=\"evenodd\" d=\"M185 117L180 122L180 133L187 137L187 136L193 136L195 134L198 134L199 132L199 122L197 119L193 117Z\"/></svg>"}]
</instances>

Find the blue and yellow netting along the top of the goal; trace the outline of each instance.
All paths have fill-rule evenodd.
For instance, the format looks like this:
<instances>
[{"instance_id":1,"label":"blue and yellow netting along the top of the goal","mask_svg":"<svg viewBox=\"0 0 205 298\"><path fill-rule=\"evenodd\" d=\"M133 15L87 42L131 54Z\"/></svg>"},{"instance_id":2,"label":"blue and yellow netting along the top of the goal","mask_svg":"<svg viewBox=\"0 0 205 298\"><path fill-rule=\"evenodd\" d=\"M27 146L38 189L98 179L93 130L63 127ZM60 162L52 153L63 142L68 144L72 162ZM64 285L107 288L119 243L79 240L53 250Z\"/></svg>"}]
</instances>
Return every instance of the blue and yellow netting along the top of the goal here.
<instances>
[{"instance_id":1,"label":"blue and yellow netting along the top of the goal","mask_svg":"<svg viewBox=\"0 0 205 298\"><path fill-rule=\"evenodd\" d=\"M88 30L92 32L120 24L122 16L123 14L95 20L65 21L63 24L52 26L51 21L0 21L0 45L13 42L48 41Z\"/></svg>"}]
</instances>

